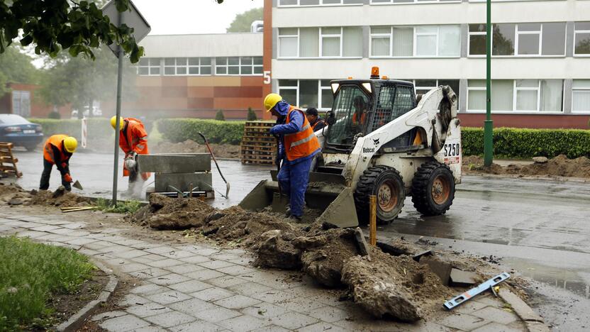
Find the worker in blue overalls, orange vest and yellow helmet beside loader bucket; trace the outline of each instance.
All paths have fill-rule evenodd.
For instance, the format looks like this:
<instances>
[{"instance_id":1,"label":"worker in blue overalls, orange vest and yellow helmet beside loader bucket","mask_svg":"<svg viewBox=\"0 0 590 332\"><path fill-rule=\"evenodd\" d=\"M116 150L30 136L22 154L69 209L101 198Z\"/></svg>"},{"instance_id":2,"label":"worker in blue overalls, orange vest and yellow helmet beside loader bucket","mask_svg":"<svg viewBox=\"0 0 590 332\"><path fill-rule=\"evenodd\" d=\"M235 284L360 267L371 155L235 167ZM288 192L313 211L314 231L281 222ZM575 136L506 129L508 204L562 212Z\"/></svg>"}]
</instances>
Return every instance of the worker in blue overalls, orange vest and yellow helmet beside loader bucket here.
<instances>
[{"instance_id":1,"label":"worker in blue overalls, orange vest and yellow helmet beside loader bucket","mask_svg":"<svg viewBox=\"0 0 590 332\"><path fill-rule=\"evenodd\" d=\"M277 125L270 128L270 134L279 136L277 179L282 191L290 195L291 206L287 214L300 221L304 214L311 162L321 152L320 143L304 111L289 105L279 94L266 96L265 109L277 117Z\"/></svg>"}]
</instances>

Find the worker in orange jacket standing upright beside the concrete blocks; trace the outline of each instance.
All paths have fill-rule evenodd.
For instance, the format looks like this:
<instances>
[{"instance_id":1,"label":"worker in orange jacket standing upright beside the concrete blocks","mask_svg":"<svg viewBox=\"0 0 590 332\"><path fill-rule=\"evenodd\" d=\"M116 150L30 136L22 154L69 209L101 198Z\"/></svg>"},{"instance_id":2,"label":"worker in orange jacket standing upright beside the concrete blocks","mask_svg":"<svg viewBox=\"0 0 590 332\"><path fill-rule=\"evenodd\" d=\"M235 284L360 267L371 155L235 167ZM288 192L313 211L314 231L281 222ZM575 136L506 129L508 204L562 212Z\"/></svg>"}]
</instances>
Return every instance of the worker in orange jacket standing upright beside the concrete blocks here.
<instances>
[{"instance_id":1,"label":"worker in orange jacket standing upright beside the concrete blocks","mask_svg":"<svg viewBox=\"0 0 590 332\"><path fill-rule=\"evenodd\" d=\"M117 126L117 117L111 118L113 129ZM136 118L120 118L119 121L119 148L125 153L123 160L123 177L129 177L129 189L132 190L138 179L137 163L134 167L126 166L126 160L135 160L136 155L147 155L147 133L143 123ZM141 173L143 181L150 177L150 173Z\"/></svg>"}]
</instances>

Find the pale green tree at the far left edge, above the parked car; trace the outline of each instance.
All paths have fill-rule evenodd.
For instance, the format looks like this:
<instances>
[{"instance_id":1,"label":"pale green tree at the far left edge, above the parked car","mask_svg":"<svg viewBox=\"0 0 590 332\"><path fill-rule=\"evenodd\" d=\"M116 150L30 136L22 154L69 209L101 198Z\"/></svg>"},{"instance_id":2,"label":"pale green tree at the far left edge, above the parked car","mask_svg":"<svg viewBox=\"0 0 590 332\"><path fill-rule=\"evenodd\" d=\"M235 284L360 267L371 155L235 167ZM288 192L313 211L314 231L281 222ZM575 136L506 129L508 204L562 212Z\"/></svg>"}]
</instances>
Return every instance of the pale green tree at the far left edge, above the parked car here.
<instances>
[{"instance_id":1,"label":"pale green tree at the far left edge, above the parked car","mask_svg":"<svg viewBox=\"0 0 590 332\"><path fill-rule=\"evenodd\" d=\"M36 84L39 80L39 70L30 63L30 56L21 52L16 45L6 48L0 56L0 96L9 92L7 83Z\"/></svg>"}]
</instances>

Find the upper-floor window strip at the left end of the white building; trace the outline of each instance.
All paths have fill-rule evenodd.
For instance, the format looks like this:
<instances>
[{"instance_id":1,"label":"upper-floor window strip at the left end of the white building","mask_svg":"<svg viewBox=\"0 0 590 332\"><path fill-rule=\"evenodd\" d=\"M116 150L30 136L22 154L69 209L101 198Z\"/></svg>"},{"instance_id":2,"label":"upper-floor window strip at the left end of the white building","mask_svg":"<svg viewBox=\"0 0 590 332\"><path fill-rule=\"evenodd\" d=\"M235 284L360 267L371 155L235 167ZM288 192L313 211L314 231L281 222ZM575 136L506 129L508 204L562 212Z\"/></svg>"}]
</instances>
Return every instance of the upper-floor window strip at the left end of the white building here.
<instances>
[{"instance_id":1,"label":"upper-floor window strip at the left end of the white building","mask_svg":"<svg viewBox=\"0 0 590 332\"><path fill-rule=\"evenodd\" d=\"M279 57L362 57L362 29L279 28Z\"/></svg>"}]
</instances>

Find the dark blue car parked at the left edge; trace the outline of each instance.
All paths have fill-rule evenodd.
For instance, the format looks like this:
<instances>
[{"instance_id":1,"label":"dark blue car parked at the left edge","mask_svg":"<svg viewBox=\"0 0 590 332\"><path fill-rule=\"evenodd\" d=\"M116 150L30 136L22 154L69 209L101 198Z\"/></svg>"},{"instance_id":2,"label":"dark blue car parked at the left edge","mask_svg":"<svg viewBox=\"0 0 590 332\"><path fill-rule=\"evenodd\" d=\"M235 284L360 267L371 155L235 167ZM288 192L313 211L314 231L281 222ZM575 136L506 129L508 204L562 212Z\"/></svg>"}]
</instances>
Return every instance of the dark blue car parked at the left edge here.
<instances>
[{"instance_id":1,"label":"dark blue car parked at the left edge","mask_svg":"<svg viewBox=\"0 0 590 332\"><path fill-rule=\"evenodd\" d=\"M43 128L16 114L0 114L0 142L35 149L43 140Z\"/></svg>"}]
</instances>

